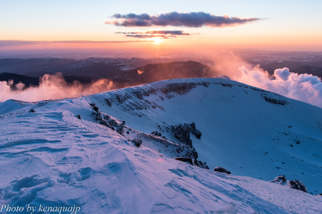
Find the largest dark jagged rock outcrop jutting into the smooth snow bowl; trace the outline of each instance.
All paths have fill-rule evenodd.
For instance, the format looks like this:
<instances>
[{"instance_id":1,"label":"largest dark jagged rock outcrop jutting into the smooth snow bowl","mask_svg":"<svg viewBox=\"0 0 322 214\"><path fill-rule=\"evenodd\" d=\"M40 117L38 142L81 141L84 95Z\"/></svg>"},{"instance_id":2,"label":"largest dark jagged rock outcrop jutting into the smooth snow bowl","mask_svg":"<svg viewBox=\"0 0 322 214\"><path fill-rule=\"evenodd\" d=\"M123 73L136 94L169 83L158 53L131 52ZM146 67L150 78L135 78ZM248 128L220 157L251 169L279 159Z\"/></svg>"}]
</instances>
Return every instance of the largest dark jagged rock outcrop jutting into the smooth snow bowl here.
<instances>
[{"instance_id":1,"label":"largest dark jagged rock outcrop jutting into the smooth snow bowl","mask_svg":"<svg viewBox=\"0 0 322 214\"><path fill-rule=\"evenodd\" d=\"M201 132L196 129L194 123L185 123L183 125L179 124L177 127L172 126L171 130L175 134L175 137L178 139L178 141L184 143L190 148L193 147L192 140L190 139L190 133L194 134L198 139L201 137Z\"/></svg>"}]
</instances>

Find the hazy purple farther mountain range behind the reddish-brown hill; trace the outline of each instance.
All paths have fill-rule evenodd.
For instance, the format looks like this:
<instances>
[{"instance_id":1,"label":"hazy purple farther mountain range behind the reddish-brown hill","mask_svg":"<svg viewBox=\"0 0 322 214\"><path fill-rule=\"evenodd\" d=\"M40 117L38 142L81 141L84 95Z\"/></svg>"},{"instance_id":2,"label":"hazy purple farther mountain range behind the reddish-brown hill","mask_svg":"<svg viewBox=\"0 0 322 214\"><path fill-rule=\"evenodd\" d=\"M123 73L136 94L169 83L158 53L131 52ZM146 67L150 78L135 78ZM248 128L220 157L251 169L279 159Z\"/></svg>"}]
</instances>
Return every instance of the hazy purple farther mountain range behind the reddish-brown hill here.
<instances>
[{"instance_id":1,"label":"hazy purple farther mountain range behind the reddish-brown hill","mask_svg":"<svg viewBox=\"0 0 322 214\"><path fill-rule=\"evenodd\" d=\"M153 59L113 59L94 58L84 60L61 58L35 59L0 59L0 72L15 73L30 77L41 77L46 73L61 72L64 76L90 76L107 78L126 70L139 68L147 64L168 63L178 61L168 58Z\"/></svg>"}]
</instances>

